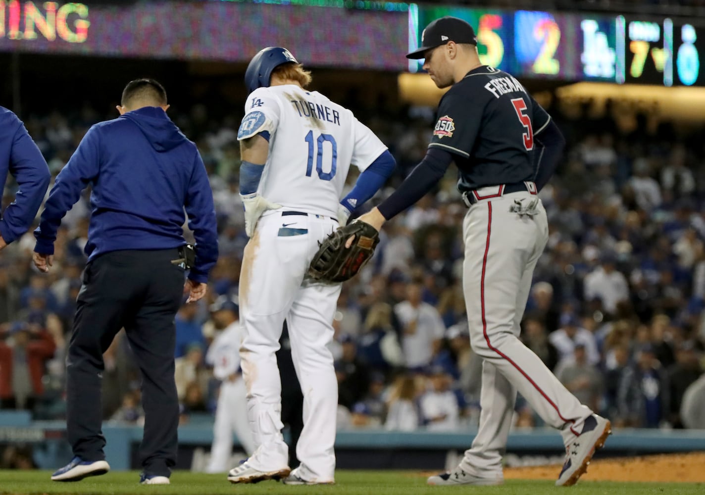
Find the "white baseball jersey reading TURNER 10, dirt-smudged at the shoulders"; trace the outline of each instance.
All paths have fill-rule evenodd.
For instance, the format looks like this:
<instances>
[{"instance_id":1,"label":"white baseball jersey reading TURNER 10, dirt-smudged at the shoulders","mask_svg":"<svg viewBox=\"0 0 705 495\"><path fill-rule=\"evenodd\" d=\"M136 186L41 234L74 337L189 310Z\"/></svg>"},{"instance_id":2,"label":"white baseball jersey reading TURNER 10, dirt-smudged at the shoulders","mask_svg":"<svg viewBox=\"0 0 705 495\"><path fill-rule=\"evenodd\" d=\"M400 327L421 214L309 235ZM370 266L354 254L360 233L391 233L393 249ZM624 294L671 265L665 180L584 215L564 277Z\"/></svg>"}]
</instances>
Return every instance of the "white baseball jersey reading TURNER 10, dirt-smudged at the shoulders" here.
<instances>
[{"instance_id":1,"label":"white baseball jersey reading TURNER 10, dirt-smudged at the shoulders","mask_svg":"<svg viewBox=\"0 0 705 495\"><path fill-rule=\"evenodd\" d=\"M350 165L364 171L387 149L353 112L298 85L250 94L238 140L257 133L269 137L257 193L287 209L333 217Z\"/></svg>"}]
</instances>

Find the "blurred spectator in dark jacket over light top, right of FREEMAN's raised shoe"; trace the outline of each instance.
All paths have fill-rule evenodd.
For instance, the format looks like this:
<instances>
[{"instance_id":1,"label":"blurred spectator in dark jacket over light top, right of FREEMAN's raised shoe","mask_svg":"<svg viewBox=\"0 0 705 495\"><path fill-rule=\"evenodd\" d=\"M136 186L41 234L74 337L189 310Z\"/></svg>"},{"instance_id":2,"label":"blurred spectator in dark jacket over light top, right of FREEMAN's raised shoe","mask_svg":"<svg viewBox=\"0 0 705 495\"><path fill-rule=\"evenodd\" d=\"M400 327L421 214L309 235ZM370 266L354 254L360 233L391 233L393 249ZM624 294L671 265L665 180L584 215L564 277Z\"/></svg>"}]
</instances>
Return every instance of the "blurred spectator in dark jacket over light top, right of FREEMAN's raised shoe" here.
<instances>
[{"instance_id":1,"label":"blurred spectator in dark jacket over light top, right of FREEMAN's raised shoe","mask_svg":"<svg viewBox=\"0 0 705 495\"><path fill-rule=\"evenodd\" d=\"M654 355L651 344L637 350L636 362L627 367L618 392L617 426L658 428L666 420L670 399L668 376Z\"/></svg>"}]
</instances>

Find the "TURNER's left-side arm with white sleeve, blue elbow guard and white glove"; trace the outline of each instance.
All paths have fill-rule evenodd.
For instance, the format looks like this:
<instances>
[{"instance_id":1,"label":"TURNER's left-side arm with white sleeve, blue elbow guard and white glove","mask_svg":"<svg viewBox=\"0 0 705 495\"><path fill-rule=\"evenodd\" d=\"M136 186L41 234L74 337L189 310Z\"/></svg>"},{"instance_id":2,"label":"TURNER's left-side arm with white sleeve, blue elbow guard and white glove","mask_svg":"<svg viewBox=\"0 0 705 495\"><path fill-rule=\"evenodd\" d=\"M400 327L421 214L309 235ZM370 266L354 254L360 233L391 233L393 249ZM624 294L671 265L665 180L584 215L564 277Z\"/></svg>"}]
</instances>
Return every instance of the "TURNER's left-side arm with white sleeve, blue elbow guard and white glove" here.
<instances>
[{"instance_id":1,"label":"TURNER's left-side arm with white sleeve, blue elbow guard and white glove","mask_svg":"<svg viewBox=\"0 0 705 495\"><path fill-rule=\"evenodd\" d=\"M268 209L281 208L257 193L266 160L269 157L269 140L279 123L279 104L269 96L266 88L250 94L245 104L245 117L240 123L240 197L245 206L245 233L255 235L257 220Z\"/></svg>"}]
</instances>

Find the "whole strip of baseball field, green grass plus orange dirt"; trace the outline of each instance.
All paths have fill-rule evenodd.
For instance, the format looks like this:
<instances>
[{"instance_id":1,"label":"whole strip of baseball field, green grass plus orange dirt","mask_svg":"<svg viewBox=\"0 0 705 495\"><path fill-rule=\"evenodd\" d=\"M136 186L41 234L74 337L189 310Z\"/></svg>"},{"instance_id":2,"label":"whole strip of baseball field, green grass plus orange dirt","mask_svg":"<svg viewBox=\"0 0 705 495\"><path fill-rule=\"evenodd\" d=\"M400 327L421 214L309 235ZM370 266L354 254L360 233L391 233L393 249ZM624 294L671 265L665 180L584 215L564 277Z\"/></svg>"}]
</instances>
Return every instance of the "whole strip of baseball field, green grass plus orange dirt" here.
<instances>
[{"instance_id":1,"label":"whole strip of baseball field, green grass plus orange dirt","mask_svg":"<svg viewBox=\"0 0 705 495\"><path fill-rule=\"evenodd\" d=\"M140 486L139 472L111 472L78 483L56 483L48 471L0 471L0 494L12 495L133 495L142 493L173 495L426 495L496 494L541 495L566 493L580 495L701 495L705 493L705 453L677 456L650 456L626 460L597 460L587 475L570 488L553 485L556 466L505 470L505 484L499 487L428 487L428 473L418 471L338 470L334 486L291 487L277 482L233 485L225 475L177 471L172 484ZM680 480L680 481L679 481Z\"/></svg>"}]
</instances>

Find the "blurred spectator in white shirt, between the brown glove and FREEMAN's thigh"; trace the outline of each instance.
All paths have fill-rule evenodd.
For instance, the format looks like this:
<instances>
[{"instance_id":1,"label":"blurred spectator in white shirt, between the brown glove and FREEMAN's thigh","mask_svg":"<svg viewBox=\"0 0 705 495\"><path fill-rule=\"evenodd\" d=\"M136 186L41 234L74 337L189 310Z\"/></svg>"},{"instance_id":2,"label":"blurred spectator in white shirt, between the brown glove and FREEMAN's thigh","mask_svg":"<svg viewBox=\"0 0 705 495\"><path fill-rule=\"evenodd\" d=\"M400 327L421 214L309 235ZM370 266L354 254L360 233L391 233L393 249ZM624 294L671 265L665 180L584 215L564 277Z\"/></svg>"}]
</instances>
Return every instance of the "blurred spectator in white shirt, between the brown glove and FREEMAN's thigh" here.
<instances>
[{"instance_id":1,"label":"blurred spectator in white shirt, between the brown glove and FREEMAN's thigh","mask_svg":"<svg viewBox=\"0 0 705 495\"><path fill-rule=\"evenodd\" d=\"M446 327L435 307L421 300L422 285L418 281L407 284L406 300L394 307L402 324L401 346L406 365L410 369L428 366L438 352L440 339Z\"/></svg>"}]
</instances>

